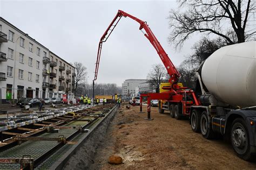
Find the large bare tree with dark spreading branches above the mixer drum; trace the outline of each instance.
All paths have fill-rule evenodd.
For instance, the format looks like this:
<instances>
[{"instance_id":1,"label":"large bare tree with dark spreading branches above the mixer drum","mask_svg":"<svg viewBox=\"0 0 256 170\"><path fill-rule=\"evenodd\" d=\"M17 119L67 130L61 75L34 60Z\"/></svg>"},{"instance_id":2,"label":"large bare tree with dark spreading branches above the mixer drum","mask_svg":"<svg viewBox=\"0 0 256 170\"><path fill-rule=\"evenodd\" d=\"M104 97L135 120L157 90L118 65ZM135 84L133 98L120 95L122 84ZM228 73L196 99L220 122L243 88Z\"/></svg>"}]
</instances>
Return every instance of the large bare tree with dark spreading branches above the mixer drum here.
<instances>
[{"instance_id":1,"label":"large bare tree with dark spreading branches above the mixer drum","mask_svg":"<svg viewBox=\"0 0 256 170\"><path fill-rule=\"evenodd\" d=\"M172 9L169 15L172 29L169 41L174 42L176 47L182 46L196 32L215 34L227 44L255 39L255 26L248 29L248 22L254 20L255 1L180 0L179 3L179 8Z\"/></svg>"}]
</instances>

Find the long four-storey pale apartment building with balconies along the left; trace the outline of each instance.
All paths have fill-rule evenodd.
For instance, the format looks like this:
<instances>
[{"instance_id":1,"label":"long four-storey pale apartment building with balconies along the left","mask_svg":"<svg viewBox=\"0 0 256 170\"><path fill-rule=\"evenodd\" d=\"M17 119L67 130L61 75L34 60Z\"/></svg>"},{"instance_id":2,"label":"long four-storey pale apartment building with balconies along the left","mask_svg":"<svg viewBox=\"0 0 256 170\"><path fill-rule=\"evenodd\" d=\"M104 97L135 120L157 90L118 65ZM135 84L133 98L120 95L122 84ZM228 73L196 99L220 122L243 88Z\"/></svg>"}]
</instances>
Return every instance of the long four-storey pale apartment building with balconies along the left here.
<instances>
[{"instance_id":1,"label":"long four-storey pale apartment building with balconies along the left","mask_svg":"<svg viewBox=\"0 0 256 170\"><path fill-rule=\"evenodd\" d=\"M22 97L51 97L50 84L54 82L51 71L55 70L51 54L48 48L0 17L0 102ZM70 70L69 74L63 73L69 77L63 80L68 81L64 92L72 96L72 76L69 75L72 70L75 73L75 68L63 62Z\"/></svg>"}]
</instances>

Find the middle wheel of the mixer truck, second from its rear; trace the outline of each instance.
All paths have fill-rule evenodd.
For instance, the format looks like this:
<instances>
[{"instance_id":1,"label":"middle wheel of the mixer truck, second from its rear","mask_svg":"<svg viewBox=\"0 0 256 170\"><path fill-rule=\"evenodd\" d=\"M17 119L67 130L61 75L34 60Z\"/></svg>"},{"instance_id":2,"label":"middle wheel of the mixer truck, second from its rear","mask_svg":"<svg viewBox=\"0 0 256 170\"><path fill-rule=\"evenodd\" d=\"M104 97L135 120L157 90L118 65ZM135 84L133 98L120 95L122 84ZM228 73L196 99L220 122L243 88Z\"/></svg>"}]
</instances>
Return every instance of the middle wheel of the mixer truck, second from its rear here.
<instances>
[{"instance_id":1,"label":"middle wheel of the mixer truck, second from its rear","mask_svg":"<svg viewBox=\"0 0 256 170\"><path fill-rule=\"evenodd\" d=\"M212 126L210 125L210 121L208 119L208 114L206 111L203 111L200 118L200 129L203 137L205 139L213 139L215 138L215 133L212 130Z\"/></svg>"}]
</instances>

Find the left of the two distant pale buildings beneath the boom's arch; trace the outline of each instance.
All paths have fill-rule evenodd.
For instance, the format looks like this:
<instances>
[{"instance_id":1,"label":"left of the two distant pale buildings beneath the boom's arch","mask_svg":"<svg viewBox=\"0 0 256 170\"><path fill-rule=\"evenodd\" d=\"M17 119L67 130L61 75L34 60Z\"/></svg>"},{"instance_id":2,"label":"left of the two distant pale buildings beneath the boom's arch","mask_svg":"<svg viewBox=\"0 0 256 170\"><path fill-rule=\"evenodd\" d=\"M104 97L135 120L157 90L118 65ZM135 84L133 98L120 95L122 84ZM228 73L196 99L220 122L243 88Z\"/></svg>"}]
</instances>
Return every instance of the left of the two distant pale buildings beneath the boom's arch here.
<instances>
[{"instance_id":1,"label":"left of the two distant pale buildings beneath the boom's arch","mask_svg":"<svg viewBox=\"0 0 256 170\"><path fill-rule=\"evenodd\" d=\"M140 83L145 83L147 80L145 79L128 79L122 83L122 96L137 96L136 87L139 86Z\"/></svg>"}]
</instances>

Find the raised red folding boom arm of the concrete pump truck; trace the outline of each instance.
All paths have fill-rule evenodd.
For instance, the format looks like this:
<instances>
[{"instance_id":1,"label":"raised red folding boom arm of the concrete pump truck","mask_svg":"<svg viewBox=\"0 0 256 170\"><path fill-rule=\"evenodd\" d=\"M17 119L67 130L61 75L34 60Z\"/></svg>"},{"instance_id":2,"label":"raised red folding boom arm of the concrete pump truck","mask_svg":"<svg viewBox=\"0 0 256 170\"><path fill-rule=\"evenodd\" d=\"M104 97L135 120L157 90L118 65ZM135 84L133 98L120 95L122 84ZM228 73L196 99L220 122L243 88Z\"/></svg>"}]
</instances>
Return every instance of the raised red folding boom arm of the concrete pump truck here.
<instances>
[{"instance_id":1,"label":"raised red folding boom arm of the concrete pump truck","mask_svg":"<svg viewBox=\"0 0 256 170\"><path fill-rule=\"evenodd\" d=\"M98 46L97 62L96 62L96 68L95 68L95 78L94 78L93 82L95 80L97 80L97 76L98 76L100 54L102 52L102 44L103 44L103 42L105 42L107 40L107 38L109 38L110 34L114 30L114 27L116 27L116 25L118 24L119 20L123 16L124 17L129 17L129 18L135 20L136 22L138 22L140 24L139 30L144 29L146 31L146 33L144 33L143 31L142 32L144 33L144 36L153 45L153 47L156 49L158 55L160 56L161 61L164 63L164 66L165 66L165 68L167 70L167 73L170 75L169 82L170 83L177 82L178 78L180 77L180 74L179 74L178 70L173 65L173 63L170 60L169 56L164 51L164 48L160 45L159 41L154 36L153 32L150 30L150 27L147 25L147 23L144 22L143 20L140 20L140 19L130 15L129 13L126 13L126 12L122 11L122 10L118 10L117 15L114 17L114 19L110 23L109 27L107 27L107 29L104 32L103 36L100 38L99 46ZM109 31L110 31L110 33L108 33Z\"/></svg>"}]
</instances>

